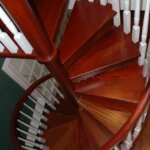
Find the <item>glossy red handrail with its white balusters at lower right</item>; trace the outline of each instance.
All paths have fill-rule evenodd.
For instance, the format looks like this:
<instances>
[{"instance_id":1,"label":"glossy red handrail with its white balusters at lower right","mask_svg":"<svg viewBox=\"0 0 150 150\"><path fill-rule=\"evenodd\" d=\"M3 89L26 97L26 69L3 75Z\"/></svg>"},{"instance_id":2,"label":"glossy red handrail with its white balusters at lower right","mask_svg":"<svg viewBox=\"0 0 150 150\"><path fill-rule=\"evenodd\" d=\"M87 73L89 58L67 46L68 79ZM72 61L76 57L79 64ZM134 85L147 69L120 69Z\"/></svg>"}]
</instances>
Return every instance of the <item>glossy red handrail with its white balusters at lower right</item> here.
<instances>
[{"instance_id":1,"label":"glossy red handrail with its white balusters at lower right","mask_svg":"<svg viewBox=\"0 0 150 150\"><path fill-rule=\"evenodd\" d=\"M134 146L134 142L139 136L144 126L145 118L150 105L150 85L147 86L141 101L129 117L123 127L100 149L101 150L129 150Z\"/></svg>"}]
</instances>

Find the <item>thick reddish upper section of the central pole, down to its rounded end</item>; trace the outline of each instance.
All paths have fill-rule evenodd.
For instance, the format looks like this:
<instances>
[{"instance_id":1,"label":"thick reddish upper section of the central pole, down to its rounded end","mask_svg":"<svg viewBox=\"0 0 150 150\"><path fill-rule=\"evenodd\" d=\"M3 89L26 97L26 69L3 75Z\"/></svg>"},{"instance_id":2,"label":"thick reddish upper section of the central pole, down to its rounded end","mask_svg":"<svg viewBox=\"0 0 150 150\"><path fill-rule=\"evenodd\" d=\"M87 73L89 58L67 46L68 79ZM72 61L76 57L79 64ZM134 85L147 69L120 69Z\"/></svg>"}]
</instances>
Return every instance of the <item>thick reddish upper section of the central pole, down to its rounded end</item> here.
<instances>
[{"instance_id":1,"label":"thick reddish upper section of the central pole, down to its rounded end","mask_svg":"<svg viewBox=\"0 0 150 150\"><path fill-rule=\"evenodd\" d=\"M25 34L37 54L37 60L45 62L56 53L40 18L35 15L27 0L0 0L17 27Z\"/></svg>"}]
</instances>

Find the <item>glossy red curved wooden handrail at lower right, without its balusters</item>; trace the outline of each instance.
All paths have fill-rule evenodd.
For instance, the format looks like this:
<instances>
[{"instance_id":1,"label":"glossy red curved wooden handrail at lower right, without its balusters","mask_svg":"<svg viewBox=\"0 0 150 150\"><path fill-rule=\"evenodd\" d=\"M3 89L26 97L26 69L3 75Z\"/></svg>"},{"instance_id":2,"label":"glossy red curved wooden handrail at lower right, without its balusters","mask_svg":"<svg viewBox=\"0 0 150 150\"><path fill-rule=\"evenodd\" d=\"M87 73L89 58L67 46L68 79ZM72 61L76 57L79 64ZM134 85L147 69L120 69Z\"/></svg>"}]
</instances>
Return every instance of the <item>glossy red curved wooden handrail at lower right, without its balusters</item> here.
<instances>
[{"instance_id":1,"label":"glossy red curved wooden handrail at lower right, without its balusters","mask_svg":"<svg viewBox=\"0 0 150 150\"><path fill-rule=\"evenodd\" d=\"M122 141L127 134L133 129L136 125L139 117L141 117L145 107L147 106L150 98L150 85L144 90L141 95L141 101L135 108L133 114L129 117L128 121L123 125L123 127L105 144L100 150L108 150L113 148L118 142Z\"/></svg>"}]
</instances>

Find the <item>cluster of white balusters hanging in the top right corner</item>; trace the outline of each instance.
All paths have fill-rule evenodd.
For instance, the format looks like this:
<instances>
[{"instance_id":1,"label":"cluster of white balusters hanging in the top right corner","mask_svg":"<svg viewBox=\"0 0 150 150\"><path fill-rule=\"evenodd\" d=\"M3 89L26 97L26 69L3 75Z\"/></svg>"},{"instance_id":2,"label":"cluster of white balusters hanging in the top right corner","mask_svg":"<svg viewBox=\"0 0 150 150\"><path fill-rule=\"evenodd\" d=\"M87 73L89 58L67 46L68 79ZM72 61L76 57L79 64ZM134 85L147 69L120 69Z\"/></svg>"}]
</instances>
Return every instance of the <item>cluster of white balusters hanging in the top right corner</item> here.
<instances>
[{"instance_id":1,"label":"cluster of white balusters hanging in the top right corner","mask_svg":"<svg viewBox=\"0 0 150 150\"><path fill-rule=\"evenodd\" d=\"M94 2L94 0L88 1ZM139 46L140 57L138 58L138 64L143 66L143 77L147 78L147 83L150 78L150 46L147 49L147 39L149 38L148 26L150 16L150 0L100 0L100 4L104 5L104 3L112 4L113 10L117 13L114 16L114 26L119 27L121 25L120 18L123 18L123 31L125 34L129 34L131 33L132 29L133 44L139 42L141 39ZM123 16L121 16L120 13L122 10ZM134 18L131 18L131 10L134 11ZM144 12L144 18L140 18L141 11ZM133 19L133 21L131 21L131 19ZM140 26L140 21L142 21L142 19L143 22ZM134 22L133 25L131 24L132 22Z\"/></svg>"}]
</instances>

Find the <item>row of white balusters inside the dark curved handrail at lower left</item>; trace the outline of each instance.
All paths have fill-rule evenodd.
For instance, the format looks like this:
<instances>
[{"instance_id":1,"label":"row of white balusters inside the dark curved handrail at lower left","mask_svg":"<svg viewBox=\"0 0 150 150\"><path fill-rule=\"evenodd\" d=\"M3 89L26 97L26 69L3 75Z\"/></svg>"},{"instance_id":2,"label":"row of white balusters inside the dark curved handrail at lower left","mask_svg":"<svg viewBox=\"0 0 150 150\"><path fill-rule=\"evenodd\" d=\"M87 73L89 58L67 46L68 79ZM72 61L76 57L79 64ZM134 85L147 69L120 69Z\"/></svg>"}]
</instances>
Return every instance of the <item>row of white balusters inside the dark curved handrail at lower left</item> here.
<instances>
[{"instance_id":1,"label":"row of white balusters inside the dark curved handrail at lower left","mask_svg":"<svg viewBox=\"0 0 150 150\"><path fill-rule=\"evenodd\" d=\"M45 84L49 81L51 83L50 86L54 87L50 99L46 99L42 95L39 98L33 98L31 96L32 93L34 93L34 91L36 90L36 88L39 87L39 85L37 85L37 87L34 90L32 90L32 88L29 88L32 90L32 92L22 103L22 107L19 110L19 115L17 116L16 132L17 138L21 142L20 146L23 149L49 150L49 147L45 145L46 140L41 137L44 133L44 130L47 129L47 115L51 111L56 110L55 104L59 104L60 100L64 99L64 95L59 90L57 82L54 83L52 78L44 81L41 84Z\"/></svg>"}]
</instances>

